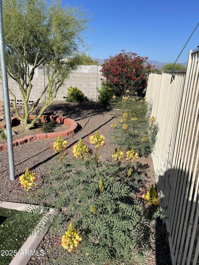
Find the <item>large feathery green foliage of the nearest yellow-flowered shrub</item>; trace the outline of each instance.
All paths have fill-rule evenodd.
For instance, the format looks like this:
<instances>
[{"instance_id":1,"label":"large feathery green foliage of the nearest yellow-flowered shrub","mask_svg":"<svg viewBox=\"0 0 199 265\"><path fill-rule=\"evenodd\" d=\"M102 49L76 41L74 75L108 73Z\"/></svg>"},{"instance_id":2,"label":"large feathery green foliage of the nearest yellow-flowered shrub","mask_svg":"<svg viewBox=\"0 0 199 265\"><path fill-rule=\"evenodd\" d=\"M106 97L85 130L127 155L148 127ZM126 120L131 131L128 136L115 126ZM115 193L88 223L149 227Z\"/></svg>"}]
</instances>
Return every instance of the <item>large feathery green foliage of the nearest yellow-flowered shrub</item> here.
<instances>
[{"instance_id":1,"label":"large feathery green foliage of the nearest yellow-flowered shrub","mask_svg":"<svg viewBox=\"0 0 199 265\"><path fill-rule=\"evenodd\" d=\"M127 178L129 168L131 175ZM143 200L137 196L141 176L132 163L99 164L92 157L55 163L42 184L43 188L37 190L41 201L61 211L50 230L54 237L62 237L71 221L82 237L78 249L70 254L66 255L67 250L58 245L58 264L132 264L132 248L143 245L140 227L143 220L148 220ZM42 225L49 228L49 216L46 212L44 216L38 230ZM149 235L150 231L145 237Z\"/></svg>"}]
</instances>

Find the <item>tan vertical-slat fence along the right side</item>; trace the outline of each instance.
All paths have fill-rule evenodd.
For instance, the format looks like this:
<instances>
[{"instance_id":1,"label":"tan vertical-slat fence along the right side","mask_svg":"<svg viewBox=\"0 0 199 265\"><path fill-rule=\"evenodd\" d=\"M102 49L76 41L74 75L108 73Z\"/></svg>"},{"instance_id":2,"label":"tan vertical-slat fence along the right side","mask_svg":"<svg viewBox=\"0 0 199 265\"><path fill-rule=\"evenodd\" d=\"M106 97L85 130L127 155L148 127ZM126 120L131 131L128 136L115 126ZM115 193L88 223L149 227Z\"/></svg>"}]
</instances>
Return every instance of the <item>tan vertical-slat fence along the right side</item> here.
<instances>
[{"instance_id":1,"label":"tan vertical-slat fence along the right side","mask_svg":"<svg viewBox=\"0 0 199 265\"><path fill-rule=\"evenodd\" d=\"M199 48L187 70L151 73L146 99L159 125L152 154L173 264L199 264Z\"/></svg>"}]
</instances>

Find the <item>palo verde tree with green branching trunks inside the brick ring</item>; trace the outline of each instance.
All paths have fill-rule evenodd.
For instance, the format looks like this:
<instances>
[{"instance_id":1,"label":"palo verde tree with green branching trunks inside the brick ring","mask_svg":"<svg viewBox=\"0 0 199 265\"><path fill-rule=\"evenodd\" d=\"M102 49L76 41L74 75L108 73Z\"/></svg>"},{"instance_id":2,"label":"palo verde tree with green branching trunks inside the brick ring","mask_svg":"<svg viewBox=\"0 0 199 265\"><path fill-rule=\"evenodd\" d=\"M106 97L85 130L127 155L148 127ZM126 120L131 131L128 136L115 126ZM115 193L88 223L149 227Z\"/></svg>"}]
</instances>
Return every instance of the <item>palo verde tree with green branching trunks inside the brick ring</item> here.
<instances>
[{"instance_id":1,"label":"palo verde tree with green branching trunks inside the brick ring","mask_svg":"<svg viewBox=\"0 0 199 265\"><path fill-rule=\"evenodd\" d=\"M76 7L62 7L60 1L5 0L2 8L7 72L19 85L24 117L17 111L14 91L9 88L9 92L16 116L24 123L25 130L29 130L50 106L69 73L78 67L78 54L87 48L85 37L90 20ZM48 81L29 109L30 92L36 89L32 80L39 68L44 69ZM47 95L44 107L29 121L44 93Z\"/></svg>"}]
</instances>

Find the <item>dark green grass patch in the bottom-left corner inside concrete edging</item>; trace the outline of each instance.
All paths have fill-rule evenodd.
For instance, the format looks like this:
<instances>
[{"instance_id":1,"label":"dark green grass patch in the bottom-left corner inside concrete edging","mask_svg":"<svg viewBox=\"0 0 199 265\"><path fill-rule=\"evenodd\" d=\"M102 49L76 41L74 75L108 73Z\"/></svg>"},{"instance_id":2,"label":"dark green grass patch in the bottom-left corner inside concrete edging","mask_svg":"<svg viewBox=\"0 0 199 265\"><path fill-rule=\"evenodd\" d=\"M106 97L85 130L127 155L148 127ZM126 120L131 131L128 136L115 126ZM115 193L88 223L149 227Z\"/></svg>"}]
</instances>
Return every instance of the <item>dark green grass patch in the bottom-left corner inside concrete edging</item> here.
<instances>
[{"instance_id":1,"label":"dark green grass patch in the bottom-left corner inside concrete edging","mask_svg":"<svg viewBox=\"0 0 199 265\"><path fill-rule=\"evenodd\" d=\"M39 221L33 217L29 221L16 218L19 212L0 207L0 264L6 265L11 262Z\"/></svg>"}]
</instances>

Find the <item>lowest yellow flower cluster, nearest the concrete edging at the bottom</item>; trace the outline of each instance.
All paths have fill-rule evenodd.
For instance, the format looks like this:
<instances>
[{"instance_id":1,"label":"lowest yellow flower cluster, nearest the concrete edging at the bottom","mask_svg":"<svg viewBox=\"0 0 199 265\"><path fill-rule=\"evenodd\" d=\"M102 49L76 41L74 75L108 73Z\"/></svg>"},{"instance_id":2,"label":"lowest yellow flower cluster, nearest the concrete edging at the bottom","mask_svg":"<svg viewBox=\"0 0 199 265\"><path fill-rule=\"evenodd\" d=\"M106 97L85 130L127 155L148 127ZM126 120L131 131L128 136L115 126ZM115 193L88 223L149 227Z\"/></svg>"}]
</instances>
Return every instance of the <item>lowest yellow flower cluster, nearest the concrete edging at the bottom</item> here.
<instances>
[{"instance_id":1,"label":"lowest yellow flower cluster, nearest the concrete edging at the bottom","mask_svg":"<svg viewBox=\"0 0 199 265\"><path fill-rule=\"evenodd\" d=\"M79 232L72 226L72 222L70 222L68 230L62 236L62 247L68 249L68 252L72 252L74 246L77 248L81 240L81 235L79 235Z\"/></svg>"}]
</instances>

